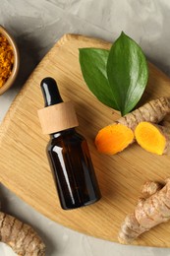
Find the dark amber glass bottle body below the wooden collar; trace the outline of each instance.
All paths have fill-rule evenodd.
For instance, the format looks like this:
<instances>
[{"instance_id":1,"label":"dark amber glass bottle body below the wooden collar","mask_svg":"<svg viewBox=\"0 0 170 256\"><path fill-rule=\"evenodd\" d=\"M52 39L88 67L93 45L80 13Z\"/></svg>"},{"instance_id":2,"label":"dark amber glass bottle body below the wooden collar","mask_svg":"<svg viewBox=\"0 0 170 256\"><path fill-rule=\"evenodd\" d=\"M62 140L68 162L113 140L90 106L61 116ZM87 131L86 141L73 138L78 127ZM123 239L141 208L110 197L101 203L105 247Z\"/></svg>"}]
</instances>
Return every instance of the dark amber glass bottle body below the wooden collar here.
<instances>
[{"instance_id":1,"label":"dark amber glass bottle body below the wooden collar","mask_svg":"<svg viewBox=\"0 0 170 256\"><path fill-rule=\"evenodd\" d=\"M63 209L89 205L100 198L85 138L74 128L56 133L47 147Z\"/></svg>"}]
</instances>

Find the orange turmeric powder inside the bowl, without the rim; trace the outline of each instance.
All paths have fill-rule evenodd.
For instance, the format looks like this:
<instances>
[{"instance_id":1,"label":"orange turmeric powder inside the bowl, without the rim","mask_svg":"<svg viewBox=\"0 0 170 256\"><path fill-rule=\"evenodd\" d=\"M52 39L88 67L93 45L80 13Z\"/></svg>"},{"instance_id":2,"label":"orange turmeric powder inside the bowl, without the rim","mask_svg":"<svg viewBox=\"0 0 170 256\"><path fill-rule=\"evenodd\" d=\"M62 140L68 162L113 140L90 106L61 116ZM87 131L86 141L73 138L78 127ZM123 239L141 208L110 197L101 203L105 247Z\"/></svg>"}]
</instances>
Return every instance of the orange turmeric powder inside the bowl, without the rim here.
<instances>
[{"instance_id":1,"label":"orange turmeric powder inside the bowl, without the rim","mask_svg":"<svg viewBox=\"0 0 170 256\"><path fill-rule=\"evenodd\" d=\"M14 65L14 52L7 38L0 33L0 88L11 75Z\"/></svg>"}]
</instances>

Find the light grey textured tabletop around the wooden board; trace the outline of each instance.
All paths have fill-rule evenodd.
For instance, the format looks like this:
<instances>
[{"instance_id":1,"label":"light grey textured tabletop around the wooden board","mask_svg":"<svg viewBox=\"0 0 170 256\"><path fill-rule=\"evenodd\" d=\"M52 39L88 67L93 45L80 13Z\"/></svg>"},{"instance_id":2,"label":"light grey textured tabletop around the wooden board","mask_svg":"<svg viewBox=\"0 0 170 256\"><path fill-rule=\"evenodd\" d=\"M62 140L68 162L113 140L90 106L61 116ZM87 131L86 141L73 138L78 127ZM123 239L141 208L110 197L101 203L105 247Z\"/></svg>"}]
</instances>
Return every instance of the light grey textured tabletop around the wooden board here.
<instances>
[{"instance_id":1,"label":"light grey textured tabletop around the wooden board","mask_svg":"<svg viewBox=\"0 0 170 256\"><path fill-rule=\"evenodd\" d=\"M170 75L170 1L0 0L0 5L0 24L12 32L21 54L17 81L0 96L0 121L36 64L67 32L114 41L124 31L141 44L152 63ZM39 215L3 185L0 189L2 210L39 231L47 256L170 255L170 249L123 246L77 233ZM14 253L0 244L0 255Z\"/></svg>"}]
</instances>

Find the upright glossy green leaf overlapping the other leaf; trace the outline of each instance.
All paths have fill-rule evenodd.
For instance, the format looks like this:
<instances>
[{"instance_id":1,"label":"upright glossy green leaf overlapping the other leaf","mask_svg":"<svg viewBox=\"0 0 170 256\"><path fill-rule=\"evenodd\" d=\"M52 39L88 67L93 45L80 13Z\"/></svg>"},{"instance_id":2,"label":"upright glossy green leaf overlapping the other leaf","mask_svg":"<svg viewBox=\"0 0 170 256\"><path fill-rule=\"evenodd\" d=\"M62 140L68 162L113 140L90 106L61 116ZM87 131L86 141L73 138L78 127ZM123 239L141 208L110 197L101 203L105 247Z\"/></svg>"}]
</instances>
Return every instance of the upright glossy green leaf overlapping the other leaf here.
<instances>
[{"instance_id":1,"label":"upright glossy green leaf overlapping the other leaf","mask_svg":"<svg viewBox=\"0 0 170 256\"><path fill-rule=\"evenodd\" d=\"M110 49L107 77L118 109L125 115L140 100L148 70L142 48L124 32Z\"/></svg>"}]
</instances>

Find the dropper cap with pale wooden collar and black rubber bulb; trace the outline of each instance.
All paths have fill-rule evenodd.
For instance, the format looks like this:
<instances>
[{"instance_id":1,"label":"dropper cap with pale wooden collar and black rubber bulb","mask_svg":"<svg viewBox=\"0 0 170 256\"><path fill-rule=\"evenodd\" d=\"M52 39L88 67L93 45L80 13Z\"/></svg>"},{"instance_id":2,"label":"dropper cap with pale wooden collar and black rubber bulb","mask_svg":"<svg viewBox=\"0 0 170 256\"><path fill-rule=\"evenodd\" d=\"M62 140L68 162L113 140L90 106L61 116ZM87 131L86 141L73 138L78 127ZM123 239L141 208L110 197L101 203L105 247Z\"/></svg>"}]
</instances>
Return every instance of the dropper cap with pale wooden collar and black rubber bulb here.
<instances>
[{"instance_id":1,"label":"dropper cap with pale wooden collar and black rubber bulb","mask_svg":"<svg viewBox=\"0 0 170 256\"><path fill-rule=\"evenodd\" d=\"M38 110L43 134L53 134L79 126L74 105L63 102L57 84L52 78L44 78L40 84L45 107Z\"/></svg>"}]
</instances>

